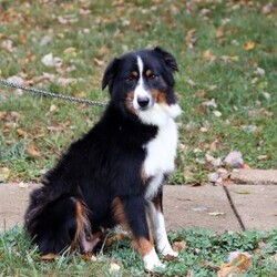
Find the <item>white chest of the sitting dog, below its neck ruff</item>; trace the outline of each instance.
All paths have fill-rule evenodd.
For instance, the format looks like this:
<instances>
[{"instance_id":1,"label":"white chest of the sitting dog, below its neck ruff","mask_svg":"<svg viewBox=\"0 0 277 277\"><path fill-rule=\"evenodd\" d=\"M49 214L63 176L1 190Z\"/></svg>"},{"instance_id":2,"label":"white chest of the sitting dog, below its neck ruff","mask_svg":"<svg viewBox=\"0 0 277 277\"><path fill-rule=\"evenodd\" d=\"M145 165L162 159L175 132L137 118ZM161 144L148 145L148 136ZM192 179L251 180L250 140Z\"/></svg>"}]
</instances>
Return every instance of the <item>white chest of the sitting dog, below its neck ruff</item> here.
<instances>
[{"instance_id":1,"label":"white chest of the sitting dog, below its neck ruff","mask_svg":"<svg viewBox=\"0 0 277 277\"><path fill-rule=\"evenodd\" d=\"M148 142L145 148L147 154L144 162L144 173L147 177L152 177L145 198L151 199L157 193L164 174L174 171L177 148L177 126L174 120L170 119L167 124L160 126L156 137Z\"/></svg>"}]
</instances>

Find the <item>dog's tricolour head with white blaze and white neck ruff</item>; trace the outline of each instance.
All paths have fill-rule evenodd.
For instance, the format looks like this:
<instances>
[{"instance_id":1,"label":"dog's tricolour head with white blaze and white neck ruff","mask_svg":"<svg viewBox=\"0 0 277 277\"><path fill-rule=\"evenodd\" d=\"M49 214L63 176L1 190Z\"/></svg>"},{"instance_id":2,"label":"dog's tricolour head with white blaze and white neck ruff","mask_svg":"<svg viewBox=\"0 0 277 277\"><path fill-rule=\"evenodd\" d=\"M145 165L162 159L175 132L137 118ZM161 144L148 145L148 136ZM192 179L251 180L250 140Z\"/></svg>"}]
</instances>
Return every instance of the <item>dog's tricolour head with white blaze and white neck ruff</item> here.
<instances>
[{"instance_id":1,"label":"dog's tricolour head with white blaze and white neck ruff","mask_svg":"<svg viewBox=\"0 0 277 277\"><path fill-rule=\"evenodd\" d=\"M145 123L161 122L161 115L181 113L174 93L175 58L161 48L130 52L106 68L102 89L109 86L111 101Z\"/></svg>"}]
</instances>

